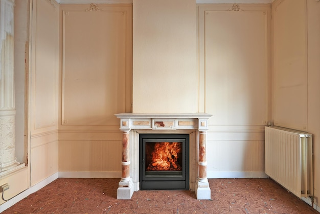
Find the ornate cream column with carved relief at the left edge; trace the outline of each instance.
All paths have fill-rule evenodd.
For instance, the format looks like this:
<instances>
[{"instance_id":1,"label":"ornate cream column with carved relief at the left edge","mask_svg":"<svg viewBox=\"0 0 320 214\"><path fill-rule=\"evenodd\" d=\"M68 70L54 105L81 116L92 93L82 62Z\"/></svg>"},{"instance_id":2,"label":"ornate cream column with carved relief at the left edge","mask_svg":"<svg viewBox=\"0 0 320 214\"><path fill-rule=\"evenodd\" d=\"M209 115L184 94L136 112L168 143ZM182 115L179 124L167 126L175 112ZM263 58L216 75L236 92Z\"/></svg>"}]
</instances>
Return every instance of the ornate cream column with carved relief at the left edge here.
<instances>
[{"instance_id":1,"label":"ornate cream column with carved relief at the left edge","mask_svg":"<svg viewBox=\"0 0 320 214\"><path fill-rule=\"evenodd\" d=\"M17 166L15 158L14 1L0 0L0 173Z\"/></svg>"}]
</instances>

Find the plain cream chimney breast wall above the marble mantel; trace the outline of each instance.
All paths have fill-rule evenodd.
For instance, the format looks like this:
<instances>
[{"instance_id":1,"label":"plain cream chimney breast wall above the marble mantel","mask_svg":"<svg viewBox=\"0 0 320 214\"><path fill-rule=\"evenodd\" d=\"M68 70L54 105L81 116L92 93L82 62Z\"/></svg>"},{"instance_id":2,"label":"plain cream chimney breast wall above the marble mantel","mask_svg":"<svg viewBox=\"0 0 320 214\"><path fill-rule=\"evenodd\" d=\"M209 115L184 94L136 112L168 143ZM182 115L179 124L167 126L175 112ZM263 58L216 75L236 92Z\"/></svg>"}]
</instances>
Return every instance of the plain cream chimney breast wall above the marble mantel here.
<instances>
[{"instance_id":1,"label":"plain cream chimney breast wall above the marble mantel","mask_svg":"<svg viewBox=\"0 0 320 214\"><path fill-rule=\"evenodd\" d=\"M133 113L198 112L195 0L133 0Z\"/></svg>"}]
</instances>

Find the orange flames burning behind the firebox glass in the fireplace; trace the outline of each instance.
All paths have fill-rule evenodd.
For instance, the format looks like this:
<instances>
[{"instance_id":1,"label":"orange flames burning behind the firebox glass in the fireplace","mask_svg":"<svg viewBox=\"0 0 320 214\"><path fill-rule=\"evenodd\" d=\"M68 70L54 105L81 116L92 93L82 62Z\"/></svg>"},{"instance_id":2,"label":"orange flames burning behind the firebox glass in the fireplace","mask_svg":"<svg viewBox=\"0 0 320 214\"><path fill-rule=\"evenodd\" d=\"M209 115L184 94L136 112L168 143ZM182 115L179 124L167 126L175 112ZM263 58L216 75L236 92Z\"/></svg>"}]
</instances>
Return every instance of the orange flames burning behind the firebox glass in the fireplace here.
<instances>
[{"instance_id":1,"label":"orange flames burning behind the firebox glass in the fireplace","mask_svg":"<svg viewBox=\"0 0 320 214\"><path fill-rule=\"evenodd\" d=\"M181 170L177 161L180 151L181 146L178 142L155 143L147 170Z\"/></svg>"}]
</instances>

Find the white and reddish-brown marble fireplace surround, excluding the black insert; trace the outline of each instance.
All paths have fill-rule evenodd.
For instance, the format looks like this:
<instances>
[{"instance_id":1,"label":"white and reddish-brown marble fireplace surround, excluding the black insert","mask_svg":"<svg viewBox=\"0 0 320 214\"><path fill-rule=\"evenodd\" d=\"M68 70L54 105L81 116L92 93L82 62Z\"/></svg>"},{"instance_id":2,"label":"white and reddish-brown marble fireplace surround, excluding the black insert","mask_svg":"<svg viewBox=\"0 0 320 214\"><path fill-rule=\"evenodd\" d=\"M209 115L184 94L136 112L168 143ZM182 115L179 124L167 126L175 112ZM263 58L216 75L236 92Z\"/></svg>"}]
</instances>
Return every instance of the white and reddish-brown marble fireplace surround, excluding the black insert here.
<instances>
[{"instance_id":1,"label":"white and reddish-brown marble fireplace surround, excluding the black insert","mask_svg":"<svg viewBox=\"0 0 320 214\"><path fill-rule=\"evenodd\" d=\"M186 154L189 161L189 188L195 191L197 199L210 199L211 190L207 179L206 113L195 114L116 114L120 118L122 137L122 176L117 189L117 199L131 199L134 191L140 190L139 136L145 134L189 135ZM168 178L170 181L170 178Z\"/></svg>"}]
</instances>

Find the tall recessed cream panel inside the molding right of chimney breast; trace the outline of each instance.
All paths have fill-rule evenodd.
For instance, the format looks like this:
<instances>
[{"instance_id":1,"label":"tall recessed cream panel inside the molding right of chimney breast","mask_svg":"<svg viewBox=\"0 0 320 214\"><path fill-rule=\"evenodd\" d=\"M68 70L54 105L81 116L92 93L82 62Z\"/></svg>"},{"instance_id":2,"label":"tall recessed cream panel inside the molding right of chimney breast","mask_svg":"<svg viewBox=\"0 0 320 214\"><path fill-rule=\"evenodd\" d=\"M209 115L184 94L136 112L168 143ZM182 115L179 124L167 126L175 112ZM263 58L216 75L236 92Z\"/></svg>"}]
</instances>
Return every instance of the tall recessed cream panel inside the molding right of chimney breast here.
<instances>
[{"instance_id":1,"label":"tall recessed cream panel inside the molding right of chimney breast","mask_svg":"<svg viewBox=\"0 0 320 214\"><path fill-rule=\"evenodd\" d=\"M268 11L230 10L204 10L205 112L210 125L264 125Z\"/></svg>"}]
</instances>

